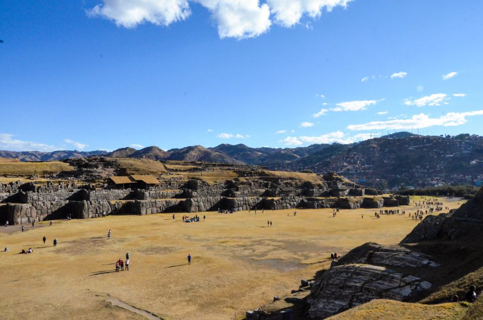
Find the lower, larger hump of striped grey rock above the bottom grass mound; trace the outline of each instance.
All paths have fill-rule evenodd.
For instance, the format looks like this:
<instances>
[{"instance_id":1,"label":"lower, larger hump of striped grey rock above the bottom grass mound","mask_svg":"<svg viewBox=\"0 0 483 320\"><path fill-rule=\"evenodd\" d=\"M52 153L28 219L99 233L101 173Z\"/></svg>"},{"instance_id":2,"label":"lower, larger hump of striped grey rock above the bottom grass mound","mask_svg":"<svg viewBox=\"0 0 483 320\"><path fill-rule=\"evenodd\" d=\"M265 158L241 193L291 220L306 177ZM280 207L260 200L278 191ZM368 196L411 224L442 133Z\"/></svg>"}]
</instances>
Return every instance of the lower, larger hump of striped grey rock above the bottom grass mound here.
<instances>
[{"instance_id":1,"label":"lower, larger hump of striped grey rock above the bottom grass mound","mask_svg":"<svg viewBox=\"0 0 483 320\"><path fill-rule=\"evenodd\" d=\"M384 267L344 265L329 269L312 285L310 317L325 318L373 299L405 301L431 283Z\"/></svg>"}]
</instances>

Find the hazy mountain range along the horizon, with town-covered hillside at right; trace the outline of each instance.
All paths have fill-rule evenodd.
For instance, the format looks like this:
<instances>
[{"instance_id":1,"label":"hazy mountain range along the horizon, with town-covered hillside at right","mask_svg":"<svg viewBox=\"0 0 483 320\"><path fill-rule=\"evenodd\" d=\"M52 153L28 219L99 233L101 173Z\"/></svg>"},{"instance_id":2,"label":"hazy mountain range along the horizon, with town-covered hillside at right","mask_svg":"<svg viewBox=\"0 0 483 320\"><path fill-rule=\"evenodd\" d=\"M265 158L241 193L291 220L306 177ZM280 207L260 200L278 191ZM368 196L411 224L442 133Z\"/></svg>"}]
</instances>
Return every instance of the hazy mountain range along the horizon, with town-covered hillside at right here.
<instances>
[{"instance_id":1,"label":"hazy mountain range along the horizon, with town-covered hillside at right","mask_svg":"<svg viewBox=\"0 0 483 320\"><path fill-rule=\"evenodd\" d=\"M271 170L315 173L334 171L370 185L427 186L477 184L483 180L483 137L425 136L397 132L351 144L312 144L295 148L252 148L245 144L201 145L162 150L149 146L107 151L0 151L0 157L50 161L88 156L149 158L158 161L203 161L259 165Z\"/></svg>"}]
</instances>

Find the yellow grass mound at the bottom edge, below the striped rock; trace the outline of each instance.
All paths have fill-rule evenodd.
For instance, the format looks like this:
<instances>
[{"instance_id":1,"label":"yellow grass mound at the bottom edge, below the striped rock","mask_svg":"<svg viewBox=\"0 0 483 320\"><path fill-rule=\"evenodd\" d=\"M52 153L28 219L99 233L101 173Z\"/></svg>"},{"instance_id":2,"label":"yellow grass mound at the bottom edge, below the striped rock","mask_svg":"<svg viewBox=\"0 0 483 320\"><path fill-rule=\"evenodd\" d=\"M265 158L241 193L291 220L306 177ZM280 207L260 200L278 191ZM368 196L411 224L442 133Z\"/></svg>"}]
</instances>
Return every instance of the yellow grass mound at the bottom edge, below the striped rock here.
<instances>
[{"instance_id":1,"label":"yellow grass mound at the bottom edge, below the striped rock","mask_svg":"<svg viewBox=\"0 0 483 320\"><path fill-rule=\"evenodd\" d=\"M430 320L455 319L464 314L466 307L459 303L420 304L394 300L372 300L345 312L329 317L330 320Z\"/></svg>"}]
</instances>

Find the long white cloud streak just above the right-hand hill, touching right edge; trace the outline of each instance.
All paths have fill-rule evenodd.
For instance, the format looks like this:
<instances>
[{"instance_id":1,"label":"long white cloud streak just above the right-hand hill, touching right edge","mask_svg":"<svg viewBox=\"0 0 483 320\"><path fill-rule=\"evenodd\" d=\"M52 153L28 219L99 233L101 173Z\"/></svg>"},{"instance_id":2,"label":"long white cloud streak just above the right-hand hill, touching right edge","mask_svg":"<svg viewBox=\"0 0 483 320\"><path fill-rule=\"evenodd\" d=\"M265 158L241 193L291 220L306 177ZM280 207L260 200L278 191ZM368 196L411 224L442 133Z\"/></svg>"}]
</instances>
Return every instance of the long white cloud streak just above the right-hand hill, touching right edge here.
<instances>
[{"instance_id":1,"label":"long white cloud streak just above the right-hand hill, touching right edge","mask_svg":"<svg viewBox=\"0 0 483 320\"><path fill-rule=\"evenodd\" d=\"M360 130L399 130L411 128L428 128L432 126L459 126L465 124L467 117L483 115L483 110L470 112L449 112L438 118L431 118L424 113L414 115L410 119L395 119L389 121L372 121L364 124L351 124L347 128L353 131Z\"/></svg>"}]
</instances>

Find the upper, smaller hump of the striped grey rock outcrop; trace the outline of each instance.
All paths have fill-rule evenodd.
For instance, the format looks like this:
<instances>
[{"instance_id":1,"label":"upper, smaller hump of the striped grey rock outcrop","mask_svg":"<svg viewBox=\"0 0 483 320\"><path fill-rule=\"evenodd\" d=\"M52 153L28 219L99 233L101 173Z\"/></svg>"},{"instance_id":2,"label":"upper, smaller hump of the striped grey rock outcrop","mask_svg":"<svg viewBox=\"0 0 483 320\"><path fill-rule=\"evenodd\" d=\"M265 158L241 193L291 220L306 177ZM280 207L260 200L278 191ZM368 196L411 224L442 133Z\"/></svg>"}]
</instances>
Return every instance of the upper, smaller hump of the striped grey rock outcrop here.
<instances>
[{"instance_id":1,"label":"upper, smaller hump of the striped grey rock outcrop","mask_svg":"<svg viewBox=\"0 0 483 320\"><path fill-rule=\"evenodd\" d=\"M363 263L384 265L398 268L438 267L439 264L431 261L431 257L413 252L400 246L382 246L376 243L366 243L352 249L347 255L333 261L332 266Z\"/></svg>"}]
</instances>

